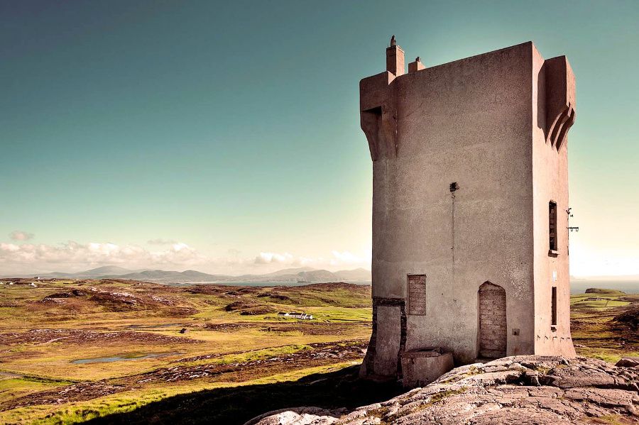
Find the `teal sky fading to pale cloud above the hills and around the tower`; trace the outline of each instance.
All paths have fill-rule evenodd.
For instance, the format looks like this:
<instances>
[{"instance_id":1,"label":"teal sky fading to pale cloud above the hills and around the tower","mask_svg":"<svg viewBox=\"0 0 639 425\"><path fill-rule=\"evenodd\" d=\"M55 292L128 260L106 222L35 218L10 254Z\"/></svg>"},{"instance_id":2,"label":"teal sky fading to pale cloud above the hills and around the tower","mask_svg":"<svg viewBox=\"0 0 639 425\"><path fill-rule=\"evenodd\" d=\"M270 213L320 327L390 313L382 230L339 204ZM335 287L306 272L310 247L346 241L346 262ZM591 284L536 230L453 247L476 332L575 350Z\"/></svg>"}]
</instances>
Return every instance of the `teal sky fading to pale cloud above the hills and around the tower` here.
<instances>
[{"instance_id":1,"label":"teal sky fading to pale cloud above the hills and around the tower","mask_svg":"<svg viewBox=\"0 0 639 425\"><path fill-rule=\"evenodd\" d=\"M0 1L0 274L369 267L359 79L533 40L577 76L572 275L639 274L639 2Z\"/></svg>"}]
</instances>

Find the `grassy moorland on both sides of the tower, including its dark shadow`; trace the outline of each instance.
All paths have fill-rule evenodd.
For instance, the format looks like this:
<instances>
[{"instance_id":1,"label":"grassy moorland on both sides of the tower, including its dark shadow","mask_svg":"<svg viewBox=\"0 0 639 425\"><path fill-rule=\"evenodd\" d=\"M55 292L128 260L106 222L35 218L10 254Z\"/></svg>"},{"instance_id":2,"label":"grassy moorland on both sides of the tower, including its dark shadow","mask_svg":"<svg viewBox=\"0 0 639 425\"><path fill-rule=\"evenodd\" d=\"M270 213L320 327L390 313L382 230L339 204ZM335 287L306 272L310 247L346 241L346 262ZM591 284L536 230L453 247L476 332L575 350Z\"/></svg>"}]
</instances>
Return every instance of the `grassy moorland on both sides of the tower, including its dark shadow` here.
<instances>
[{"instance_id":1,"label":"grassy moorland on both sides of the tower, including its dark shadow","mask_svg":"<svg viewBox=\"0 0 639 425\"><path fill-rule=\"evenodd\" d=\"M356 379L371 333L367 286L4 282L2 424L241 424L278 407L354 407L400 391ZM578 353L639 355L636 329L615 320L637 306L621 292L574 295Z\"/></svg>"}]
</instances>

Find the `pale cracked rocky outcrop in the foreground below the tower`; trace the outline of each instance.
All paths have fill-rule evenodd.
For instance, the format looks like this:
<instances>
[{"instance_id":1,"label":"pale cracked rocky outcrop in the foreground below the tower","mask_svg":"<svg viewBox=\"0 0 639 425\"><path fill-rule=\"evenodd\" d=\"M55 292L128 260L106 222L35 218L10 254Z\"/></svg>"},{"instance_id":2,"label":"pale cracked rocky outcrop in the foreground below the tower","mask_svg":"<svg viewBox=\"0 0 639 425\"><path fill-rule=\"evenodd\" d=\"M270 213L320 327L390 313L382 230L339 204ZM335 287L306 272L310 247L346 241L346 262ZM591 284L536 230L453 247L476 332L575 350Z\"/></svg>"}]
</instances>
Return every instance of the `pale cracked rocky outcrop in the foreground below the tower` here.
<instances>
[{"instance_id":1,"label":"pale cracked rocky outcrop in the foreground below the tower","mask_svg":"<svg viewBox=\"0 0 639 425\"><path fill-rule=\"evenodd\" d=\"M251 425L639 424L639 367L538 355L466 365L388 402L273 412Z\"/></svg>"}]
</instances>

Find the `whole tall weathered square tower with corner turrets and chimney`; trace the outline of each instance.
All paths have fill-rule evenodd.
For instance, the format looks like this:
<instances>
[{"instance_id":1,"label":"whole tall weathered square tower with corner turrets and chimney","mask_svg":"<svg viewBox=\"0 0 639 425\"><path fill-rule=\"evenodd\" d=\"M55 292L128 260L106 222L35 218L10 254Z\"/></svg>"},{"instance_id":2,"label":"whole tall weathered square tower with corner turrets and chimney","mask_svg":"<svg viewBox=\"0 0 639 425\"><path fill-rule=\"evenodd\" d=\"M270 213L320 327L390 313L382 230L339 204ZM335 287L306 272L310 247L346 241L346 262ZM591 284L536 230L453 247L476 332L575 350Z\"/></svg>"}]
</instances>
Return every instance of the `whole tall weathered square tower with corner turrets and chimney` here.
<instances>
[{"instance_id":1,"label":"whole tall weathered square tower with corner turrets and chimney","mask_svg":"<svg viewBox=\"0 0 639 425\"><path fill-rule=\"evenodd\" d=\"M574 356L567 132L574 74L532 42L360 82L373 160L373 335L362 375L409 353L455 363Z\"/></svg>"}]
</instances>

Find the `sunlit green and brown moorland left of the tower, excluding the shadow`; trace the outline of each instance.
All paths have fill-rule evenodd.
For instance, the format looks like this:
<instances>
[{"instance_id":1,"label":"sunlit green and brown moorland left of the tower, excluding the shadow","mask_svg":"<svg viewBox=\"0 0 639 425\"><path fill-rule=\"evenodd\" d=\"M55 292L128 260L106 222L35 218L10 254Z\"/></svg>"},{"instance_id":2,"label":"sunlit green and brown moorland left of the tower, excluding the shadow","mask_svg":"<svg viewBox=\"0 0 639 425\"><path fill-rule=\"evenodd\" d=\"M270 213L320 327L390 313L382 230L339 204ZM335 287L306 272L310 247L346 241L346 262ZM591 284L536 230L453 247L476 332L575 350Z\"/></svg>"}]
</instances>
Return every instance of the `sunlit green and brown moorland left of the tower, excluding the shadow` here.
<instances>
[{"instance_id":1,"label":"sunlit green and brown moorland left of the tower, excluding the shadow","mask_svg":"<svg viewBox=\"0 0 639 425\"><path fill-rule=\"evenodd\" d=\"M70 424L178 394L331 372L361 362L371 332L368 286L30 282L0 285L3 424Z\"/></svg>"}]
</instances>

